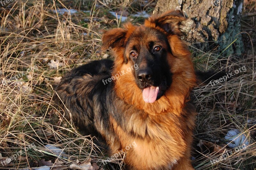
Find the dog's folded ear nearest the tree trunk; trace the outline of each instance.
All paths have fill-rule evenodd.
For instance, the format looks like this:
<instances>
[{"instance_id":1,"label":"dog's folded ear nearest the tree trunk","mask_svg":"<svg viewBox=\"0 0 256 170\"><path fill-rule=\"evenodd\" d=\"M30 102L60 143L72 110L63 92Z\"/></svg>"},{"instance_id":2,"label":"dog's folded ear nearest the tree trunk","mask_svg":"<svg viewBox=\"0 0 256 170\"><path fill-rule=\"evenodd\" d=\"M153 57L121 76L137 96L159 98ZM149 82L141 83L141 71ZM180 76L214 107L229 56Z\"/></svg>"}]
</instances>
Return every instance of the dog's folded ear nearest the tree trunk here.
<instances>
[{"instance_id":1,"label":"dog's folded ear nearest the tree trunk","mask_svg":"<svg viewBox=\"0 0 256 170\"><path fill-rule=\"evenodd\" d=\"M160 27L168 34L182 35L180 25L186 18L180 10L167 11L160 16L153 15L145 20L146 27Z\"/></svg>"}]
</instances>

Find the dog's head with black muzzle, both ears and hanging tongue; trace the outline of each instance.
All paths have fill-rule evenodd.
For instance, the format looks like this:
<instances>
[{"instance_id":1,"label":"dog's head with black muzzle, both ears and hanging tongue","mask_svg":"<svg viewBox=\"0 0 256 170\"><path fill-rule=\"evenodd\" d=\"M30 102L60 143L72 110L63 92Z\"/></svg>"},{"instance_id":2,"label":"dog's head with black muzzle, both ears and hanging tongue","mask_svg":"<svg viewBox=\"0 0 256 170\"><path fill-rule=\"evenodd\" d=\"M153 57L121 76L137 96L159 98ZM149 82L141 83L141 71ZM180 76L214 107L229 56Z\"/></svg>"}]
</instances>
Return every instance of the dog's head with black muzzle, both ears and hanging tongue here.
<instances>
[{"instance_id":1,"label":"dog's head with black muzzle, both ears and hanging tongue","mask_svg":"<svg viewBox=\"0 0 256 170\"><path fill-rule=\"evenodd\" d=\"M171 86L172 67L176 64L172 58L189 55L180 39L180 25L184 20L181 11L169 11L148 18L144 25L128 23L124 28L103 34L102 49L111 47L116 57L114 72L122 70L124 65L133 67L130 69L133 80L146 103L155 102ZM177 42L170 42L172 40Z\"/></svg>"}]
</instances>

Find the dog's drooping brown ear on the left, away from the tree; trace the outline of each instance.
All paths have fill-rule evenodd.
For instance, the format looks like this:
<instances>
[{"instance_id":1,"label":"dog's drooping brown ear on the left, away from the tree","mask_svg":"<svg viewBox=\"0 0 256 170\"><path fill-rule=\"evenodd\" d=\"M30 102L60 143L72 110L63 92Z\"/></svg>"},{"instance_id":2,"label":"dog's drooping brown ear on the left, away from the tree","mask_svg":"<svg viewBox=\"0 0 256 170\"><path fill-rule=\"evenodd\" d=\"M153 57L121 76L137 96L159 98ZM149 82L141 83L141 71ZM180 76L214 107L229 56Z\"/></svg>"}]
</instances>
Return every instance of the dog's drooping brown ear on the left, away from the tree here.
<instances>
[{"instance_id":1,"label":"dog's drooping brown ear on the left, away from the tree","mask_svg":"<svg viewBox=\"0 0 256 170\"><path fill-rule=\"evenodd\" d=\"M102 36L102 50L107 50L109 47L116 48L124 46L124 39L127 33L126 29L114 28L105 31Z\"/></svg>"}]
</instances>

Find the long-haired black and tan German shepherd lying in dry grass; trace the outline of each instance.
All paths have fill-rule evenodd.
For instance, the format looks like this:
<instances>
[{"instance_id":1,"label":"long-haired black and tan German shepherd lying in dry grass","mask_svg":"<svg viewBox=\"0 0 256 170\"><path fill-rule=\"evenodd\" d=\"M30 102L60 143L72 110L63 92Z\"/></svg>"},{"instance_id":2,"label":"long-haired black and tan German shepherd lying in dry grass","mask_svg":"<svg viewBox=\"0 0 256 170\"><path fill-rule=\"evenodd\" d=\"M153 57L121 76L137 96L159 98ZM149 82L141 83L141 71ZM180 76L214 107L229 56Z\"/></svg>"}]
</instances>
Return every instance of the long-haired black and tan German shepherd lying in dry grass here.
<instances>
[{"instance_id":1,"label":"long-haired black and tan German shepherd lying in dry grass","mask_svg":"<svg viewBox=\"0 0 256 170\"><path fill-rule=\"evenodd\" d=\"M112 48L114 61L77 67L56 88L54 101L68 120L109 155L127 151L126 169L194 169L189 95L196 75L181 38L184 20L181 11L168 11L104 32L102 49Z\"/></svg>"}]
</instances>

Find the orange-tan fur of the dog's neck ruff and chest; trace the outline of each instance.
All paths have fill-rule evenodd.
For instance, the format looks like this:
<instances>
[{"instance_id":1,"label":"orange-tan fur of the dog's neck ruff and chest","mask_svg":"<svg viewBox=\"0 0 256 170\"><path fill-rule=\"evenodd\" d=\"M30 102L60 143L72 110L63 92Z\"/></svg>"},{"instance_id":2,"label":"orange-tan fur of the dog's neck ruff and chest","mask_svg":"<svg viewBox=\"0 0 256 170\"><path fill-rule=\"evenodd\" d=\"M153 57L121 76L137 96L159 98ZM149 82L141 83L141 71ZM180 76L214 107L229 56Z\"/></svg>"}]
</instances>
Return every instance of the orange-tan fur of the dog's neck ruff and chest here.
<instances>
[{"instance_id":1,"label":"orange-tan fur of the dog's neck ruff and chest","mask_svg":"<svg viewBox=\"0 0 256 170\"><path fill-rule=\"evenodd\" d=\"M168 13L177 14L173 11L165 14ZM154 27L164 31L153 23L157 18L157 16L151 17L141 27ZM178 16L170 18L180 19ZM181 20L184 19L181 18ZM127 24L124 30L127 30L127 34L123 42L127 41L132 32L136 31L136 27ZM176 28L176 30L178 32L179 29ZM151 39L154 37L154 35L149 36ZM130 123L128 123L130 126L127 127L141 137L130 135L122 130L114 119L111 119L121 145L120 148L116 148L116 144L109 143L113 150L122 149L134 141L137 143L137 147L127 152L125 159L125 163L132 165L135 169L194 169L190 163L190 145L196 113L189 109L186 102L189 91L195 85L196 77L186 43L178 35L169 35L168 40L172 49L172 54L168 54L168 63L171 66L173 80L164 96L154 103L145 103L141 89L136 85L135 77L131 72L115 80L116 95L127 104L145 112L145 114L131 112ZM114 75L127 70L132 65L130 62L124 63L124 47L112 48L116 57ZM167 168L166 165L169 167Z\"/></svg>"}]
</instances>

